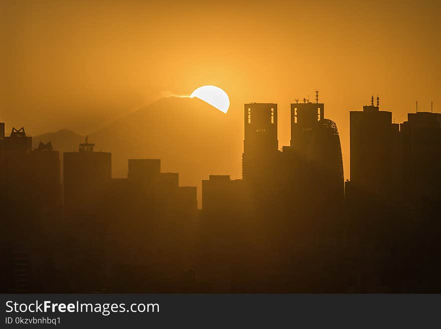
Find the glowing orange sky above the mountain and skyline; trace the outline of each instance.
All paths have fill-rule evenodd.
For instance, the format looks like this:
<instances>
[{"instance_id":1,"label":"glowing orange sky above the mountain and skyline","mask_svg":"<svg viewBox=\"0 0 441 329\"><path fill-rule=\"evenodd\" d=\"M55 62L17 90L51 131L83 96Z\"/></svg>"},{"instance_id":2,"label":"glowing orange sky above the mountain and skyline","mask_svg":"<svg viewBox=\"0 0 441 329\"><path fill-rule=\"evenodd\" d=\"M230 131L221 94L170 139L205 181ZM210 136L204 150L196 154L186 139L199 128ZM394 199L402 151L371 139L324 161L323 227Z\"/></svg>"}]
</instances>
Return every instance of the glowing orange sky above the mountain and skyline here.
<instances>
[{"instance_id":1,"label":"glowing orange sky above the mountain and skyline","mask_svg":"<svg viewBox=\"0 0 441 329\"><path fill-rule=\"evenodd\" d=\"M320 90L349 177L349 110L372 93L396 122L441 112L436 2L4 1L0 121L31 134L98 127L169 94L213 84L243 104L289 104Z\"/></svg>"}]
</instances>

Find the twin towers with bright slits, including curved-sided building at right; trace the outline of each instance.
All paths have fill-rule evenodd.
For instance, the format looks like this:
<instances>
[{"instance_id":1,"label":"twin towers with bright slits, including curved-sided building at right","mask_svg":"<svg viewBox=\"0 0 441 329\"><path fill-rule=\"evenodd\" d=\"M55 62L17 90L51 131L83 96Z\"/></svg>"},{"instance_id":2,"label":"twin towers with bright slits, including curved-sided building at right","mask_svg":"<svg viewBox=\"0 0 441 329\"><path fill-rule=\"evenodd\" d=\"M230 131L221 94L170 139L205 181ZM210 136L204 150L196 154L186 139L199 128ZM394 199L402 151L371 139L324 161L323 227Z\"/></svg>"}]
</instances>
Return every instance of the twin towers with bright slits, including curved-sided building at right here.
<instances>
[{"instance_id":1,"label":"twin towers with bright slits, including curved-sided building at right","mask_svg":"<svg viewBox=\"0 0 441 329\"><path fill-rule=\"evenodd\" d=\"M275 202L278 209L308 217L320 215L317 211L327 211L329 216L332 209L341 210L340 138L336 124L325 119L318 96L315 103L304 99L291 104L291 143L282 151L277 137L277 104L245 104L244 123L242 173L257 205Z\"/></svg>"}]
</instances>

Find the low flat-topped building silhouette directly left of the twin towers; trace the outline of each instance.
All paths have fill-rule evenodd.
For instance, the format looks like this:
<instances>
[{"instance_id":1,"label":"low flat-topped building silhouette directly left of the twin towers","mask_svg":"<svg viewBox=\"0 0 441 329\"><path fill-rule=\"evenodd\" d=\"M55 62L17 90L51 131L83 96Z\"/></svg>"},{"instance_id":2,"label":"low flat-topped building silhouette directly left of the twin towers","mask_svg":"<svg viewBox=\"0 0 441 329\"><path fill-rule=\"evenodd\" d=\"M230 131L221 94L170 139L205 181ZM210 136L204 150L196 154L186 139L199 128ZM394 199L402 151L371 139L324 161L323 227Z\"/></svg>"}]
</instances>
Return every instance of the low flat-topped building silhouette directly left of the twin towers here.
<instances>
[{"instance_id":1,"label":"low flat-topped building silhouette directly left of the twin towers","mask_svg":"<svg viewBox=\"0 0 441 329\"><path fill-rule=\"evenodd\" d=\"M253 250L249 230L256 225L249 189L242 179L210 175L202 180L202 246L200 275L209 291L230 292L243 286L247 261Z\"/></svg>"}]
</instances>

